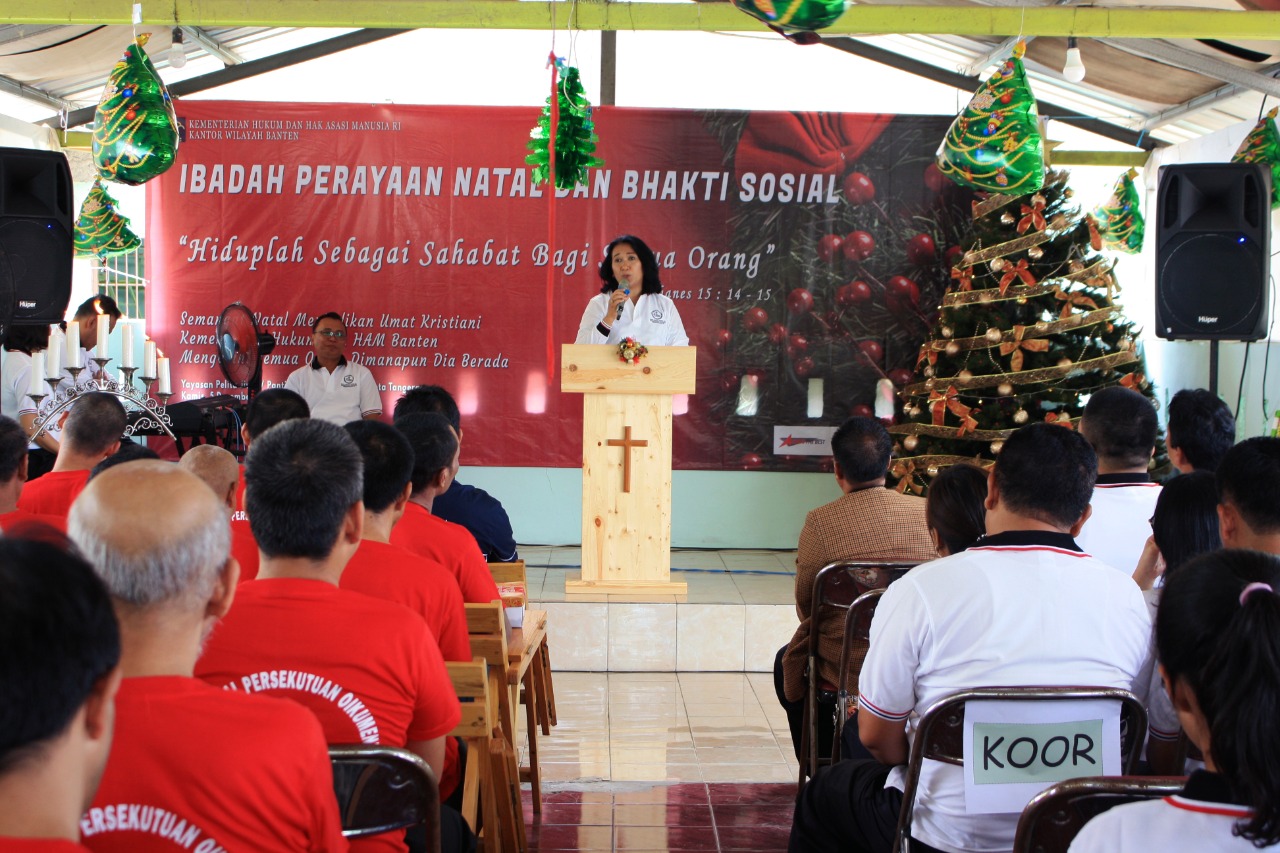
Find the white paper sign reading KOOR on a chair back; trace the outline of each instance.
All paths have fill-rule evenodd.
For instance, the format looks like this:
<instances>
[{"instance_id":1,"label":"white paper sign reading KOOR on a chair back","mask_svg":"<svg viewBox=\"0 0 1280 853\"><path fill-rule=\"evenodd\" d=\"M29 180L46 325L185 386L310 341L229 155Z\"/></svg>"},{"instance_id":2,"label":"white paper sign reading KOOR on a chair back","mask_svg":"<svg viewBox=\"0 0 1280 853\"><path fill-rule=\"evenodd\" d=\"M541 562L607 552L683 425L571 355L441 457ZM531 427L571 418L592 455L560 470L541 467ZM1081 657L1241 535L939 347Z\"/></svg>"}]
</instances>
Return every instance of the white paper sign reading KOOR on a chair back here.
<instances>
[{"instance_id":1,"label":"white paper sign reading KOOR on a chair back","mask_svg":"<svg viewBox=\"0 0 1280 853\"><path fill-rule=\"evenodd\" d=\"M969 815L1018 813L1055 783L1120 772L1119 702L965 703L964 794Z\"/></svg>"}]
</instances>

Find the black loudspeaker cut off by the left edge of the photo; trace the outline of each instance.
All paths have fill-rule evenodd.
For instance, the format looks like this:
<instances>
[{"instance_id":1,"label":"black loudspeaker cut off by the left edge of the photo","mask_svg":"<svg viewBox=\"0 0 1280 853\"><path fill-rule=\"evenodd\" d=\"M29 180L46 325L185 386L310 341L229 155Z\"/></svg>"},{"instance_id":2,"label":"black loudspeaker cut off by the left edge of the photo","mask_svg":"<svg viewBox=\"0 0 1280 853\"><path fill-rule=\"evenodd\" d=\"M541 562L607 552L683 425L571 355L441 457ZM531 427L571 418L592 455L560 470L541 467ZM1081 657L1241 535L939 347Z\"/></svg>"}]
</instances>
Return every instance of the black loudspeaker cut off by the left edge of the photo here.
<instances>
[{"instance_id":1,"label":"black loudspeaker cut off by the left edge of the photo","mask_svg":"<svg viewBox=\"0 0 1280 853\"><path fill-rule=\"evenodd\" d=\"M0 319L58 323L72 298L72 169L56 151L0 149Z\"/></svg>"}]
</instances>

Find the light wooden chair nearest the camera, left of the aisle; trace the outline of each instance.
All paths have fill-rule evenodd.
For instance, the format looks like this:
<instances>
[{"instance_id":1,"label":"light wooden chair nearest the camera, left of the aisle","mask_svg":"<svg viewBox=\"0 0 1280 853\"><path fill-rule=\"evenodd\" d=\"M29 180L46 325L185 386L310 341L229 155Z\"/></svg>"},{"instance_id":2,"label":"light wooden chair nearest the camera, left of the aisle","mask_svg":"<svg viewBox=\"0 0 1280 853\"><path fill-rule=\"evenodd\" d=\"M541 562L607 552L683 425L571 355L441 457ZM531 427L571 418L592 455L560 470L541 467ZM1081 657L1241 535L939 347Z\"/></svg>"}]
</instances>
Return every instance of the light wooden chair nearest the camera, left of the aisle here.
<instances>
[{"instance_id":1,"label":"light wooden chair nearest the camera, left of the aisle","mask_svg":"<svg viewBox=\"0 0 1280 853\"><path fill-rule=\"evenodd\" d=\"M462 781L462 817L472 827L481 826L480 840L490 853L525 850L524 808L520 804L520 786L511 788L511 765L515 754L503 749L498 712L498 694L504 684L484 660L470 663L444 665L453 681L453 690L462 701L462 720L451 736L462 738L467 744L467 763ZM497 749L494 749L497 744ZM477 817L483 815L483 824Z\"/></svg>"}]
</instances>

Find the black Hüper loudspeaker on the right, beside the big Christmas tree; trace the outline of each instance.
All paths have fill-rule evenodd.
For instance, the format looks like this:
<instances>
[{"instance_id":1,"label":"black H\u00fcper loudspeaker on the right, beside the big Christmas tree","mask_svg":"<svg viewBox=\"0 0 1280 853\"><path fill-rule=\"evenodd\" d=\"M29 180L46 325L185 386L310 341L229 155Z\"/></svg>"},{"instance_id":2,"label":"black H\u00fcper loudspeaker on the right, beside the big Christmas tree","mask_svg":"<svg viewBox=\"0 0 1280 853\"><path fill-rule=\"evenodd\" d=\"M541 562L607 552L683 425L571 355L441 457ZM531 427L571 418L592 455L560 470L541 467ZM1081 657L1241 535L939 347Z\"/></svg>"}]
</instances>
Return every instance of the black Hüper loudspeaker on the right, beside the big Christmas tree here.
<instances>
[{"instance_id":1,"label":"black H\u00fcper loudspeaker on the right, beside the big Christmas tree","mask_svg":"<svg viewBox=\"0 0 1280 853\"><path fill-rule=\"evenodd\" d=\"M1257 341L1267 333L1271 174L1251 163L1160 170L1156 334Z\"/></svg>"}]
</instances>

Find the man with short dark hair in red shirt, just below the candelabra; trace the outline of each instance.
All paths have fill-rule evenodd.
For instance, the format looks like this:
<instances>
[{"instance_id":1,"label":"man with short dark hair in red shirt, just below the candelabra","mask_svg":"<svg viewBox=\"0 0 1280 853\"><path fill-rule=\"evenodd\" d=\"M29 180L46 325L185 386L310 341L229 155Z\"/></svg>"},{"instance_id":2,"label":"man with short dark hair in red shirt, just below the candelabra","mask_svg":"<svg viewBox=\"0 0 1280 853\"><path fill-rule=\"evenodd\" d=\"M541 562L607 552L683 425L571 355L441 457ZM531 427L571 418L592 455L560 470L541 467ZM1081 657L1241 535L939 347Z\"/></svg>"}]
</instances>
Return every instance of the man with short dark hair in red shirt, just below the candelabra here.
<instances>
[{"instance_id":1,"label":"man with short dark hair in red shirt, just below the candelabra","mask_svg":"<svg viewBox=\"0 0 1280 853\"><path fill-rule=\"evenodd\" d=\"M109 393L96 391L77 400L63 426L54 470L27 484L18 508L67 517L88 473L120 450L125 423L124 406Z\"/></svg>"}]
</instances>

